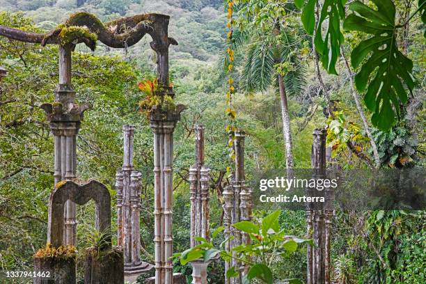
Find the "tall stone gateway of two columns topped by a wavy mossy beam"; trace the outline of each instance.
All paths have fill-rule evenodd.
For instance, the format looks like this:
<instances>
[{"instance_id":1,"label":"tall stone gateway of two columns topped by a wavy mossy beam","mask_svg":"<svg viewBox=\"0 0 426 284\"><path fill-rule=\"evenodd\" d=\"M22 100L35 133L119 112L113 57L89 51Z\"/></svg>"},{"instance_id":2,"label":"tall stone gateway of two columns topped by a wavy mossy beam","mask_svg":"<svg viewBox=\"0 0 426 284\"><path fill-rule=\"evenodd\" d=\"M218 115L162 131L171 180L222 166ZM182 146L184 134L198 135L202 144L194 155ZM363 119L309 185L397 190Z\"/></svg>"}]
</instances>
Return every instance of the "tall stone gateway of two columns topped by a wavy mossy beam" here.
<instances>
[{"instance_id":1,"label":"tall stone gateway of two columns topped by a wavy mossy beam","mask_svg":"<svg viewBox=\"0 0 426 284\"><path fill-rule=\"evenodd\" d=\"M71 15L61 27L46 34L0 26L0 36L6 36L12 40L40 43L42 46L59 45L60 79L56 89L56 102L42 105L54 133L55 184L61 180L75 178L76 136L83 113L88 108L86 105L79 106L74 102L75 93L71 86L71 52L75 45L84 43L94 50L97 39L109 47L127 48L135 45L148 33L152 38L150 47L157 54L159 88L155 90L155 95L161 98L168 95L173 98L173 89L168 82L168 47L178 45L178 42L168 37L169 19L167 15L152 13L102 23L90 13L77 12ZM65 38L61 38L63 27L69 26L85 27L85 29L76 29L79 32L66 34ZM111 26L114 28L111 29ZM153 106L150 113L155 148L155 283L173 284L173 277L181 278L179 275L173 276L173 265L170 259L173 254L171 231L173 130L184 107L182 105L173 109L164 107L161 104ZM137 182L134 180L135 183ZM75 205L72 201L67 202L64 214L63 244L76 244L77 220Z\"/></svg>"}]
</instances>

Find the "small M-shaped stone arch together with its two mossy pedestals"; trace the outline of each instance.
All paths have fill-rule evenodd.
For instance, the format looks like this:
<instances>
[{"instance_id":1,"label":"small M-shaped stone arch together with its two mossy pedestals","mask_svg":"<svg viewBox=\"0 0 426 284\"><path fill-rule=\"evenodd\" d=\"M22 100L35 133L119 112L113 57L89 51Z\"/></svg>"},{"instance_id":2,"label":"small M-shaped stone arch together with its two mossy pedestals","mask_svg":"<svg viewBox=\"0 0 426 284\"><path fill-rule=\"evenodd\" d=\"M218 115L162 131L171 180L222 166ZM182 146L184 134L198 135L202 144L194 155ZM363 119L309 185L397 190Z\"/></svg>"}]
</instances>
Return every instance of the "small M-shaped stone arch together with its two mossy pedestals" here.
<instances>
[{"instance_id":1,"label":"small M-shaped stone arch together with its two mossy pedestals","mask_svg":"<svg viewBox=\"0 0 426 284\"><path fill-rule=\"evenodd\" d=\"M63 212L68 201L84 205L88 201L95 201L95 227L104 233L102 246L89 248L86 252L84 283L111 283L124 282L123 251L111 246L111 196L104 184L92 180L79 185L70 180L56 184L49 198L49 219L47 223L47 243L53 248L65 246L63 230ZM52 271L51 279L34 278L37 284L63 283L70 284L76 281L75 256L34 257L35 271ZM107 274L105 271L109 271Z\"/></svg>"}]
</instances>

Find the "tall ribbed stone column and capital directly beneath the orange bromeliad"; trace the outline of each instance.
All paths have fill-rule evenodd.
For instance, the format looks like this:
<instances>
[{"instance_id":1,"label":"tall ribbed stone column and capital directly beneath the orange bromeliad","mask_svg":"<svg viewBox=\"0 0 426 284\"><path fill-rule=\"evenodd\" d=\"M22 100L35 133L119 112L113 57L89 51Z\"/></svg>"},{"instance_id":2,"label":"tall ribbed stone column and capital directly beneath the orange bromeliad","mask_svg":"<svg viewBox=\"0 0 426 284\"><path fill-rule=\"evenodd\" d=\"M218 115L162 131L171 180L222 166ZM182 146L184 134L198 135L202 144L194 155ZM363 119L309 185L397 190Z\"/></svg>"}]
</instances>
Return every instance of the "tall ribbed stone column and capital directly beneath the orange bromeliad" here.
<instances>
[{"instance_id":1,"label":"tall ribbed stone column and capital directly beneath the orange bromeliad","mask_svg":"<svg viewBox=\"0 0 426 284\"><path fill-rule=\"evenodd\" d=\"M171 89L168 89L171 92ZM164 94L159 94L164 95ZM173 97L173 93L171 93ZM173 284L172 195L173 131L184 107L162 110L152 107L150 127L154 133L155 283Z\"/></svg>"}]
</instances>

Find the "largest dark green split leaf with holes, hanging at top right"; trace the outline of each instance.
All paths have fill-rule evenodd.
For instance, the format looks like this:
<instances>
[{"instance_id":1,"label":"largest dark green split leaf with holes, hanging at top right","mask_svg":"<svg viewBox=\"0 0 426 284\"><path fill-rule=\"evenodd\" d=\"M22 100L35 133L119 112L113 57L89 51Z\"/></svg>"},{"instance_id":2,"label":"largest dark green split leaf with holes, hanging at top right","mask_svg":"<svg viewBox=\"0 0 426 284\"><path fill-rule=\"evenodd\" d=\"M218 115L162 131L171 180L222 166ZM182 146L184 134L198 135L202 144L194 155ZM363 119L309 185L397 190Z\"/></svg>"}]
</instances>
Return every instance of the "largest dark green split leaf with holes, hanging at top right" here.
<instances>
[{"instance_id":1,"label":"largest dark green split leaf with holes, hanging at top right","mask_svg":"<svg viewBox=\"0 0 426 284\"><path fill-rule=\"evenodd\" d=\"M362 31L372 37L352 50L351 63L361 66L355 76L356 88L366 90L365 105L372 111L372 124L387 130L399 116L400 104L407 102L407 88L414 88L413 62L404 56L396 43L395 5L390 0L372 0L374 10L359 1L349 5L356 12L349 15L343 28Z\"/></svg>"}]
</instances>

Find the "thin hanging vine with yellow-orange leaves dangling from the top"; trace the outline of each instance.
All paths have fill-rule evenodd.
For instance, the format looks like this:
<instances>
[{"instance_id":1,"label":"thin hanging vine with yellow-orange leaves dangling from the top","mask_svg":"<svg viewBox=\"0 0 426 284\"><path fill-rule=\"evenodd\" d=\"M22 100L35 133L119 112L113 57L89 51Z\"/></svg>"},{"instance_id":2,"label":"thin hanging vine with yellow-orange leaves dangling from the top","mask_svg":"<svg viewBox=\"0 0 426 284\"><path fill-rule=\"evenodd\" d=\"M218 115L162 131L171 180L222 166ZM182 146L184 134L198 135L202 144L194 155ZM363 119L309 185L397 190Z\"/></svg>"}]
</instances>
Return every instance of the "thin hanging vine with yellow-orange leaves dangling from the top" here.
<instances>
[{"instance_id":1,"label":"thin hanging vine with yellow-orange leaves dangling from the top","mask_svg":"<svg viewBox=\"0 0 426 284\"><path fill-rule=\"evenodd\" d=\"M237 112L235 111L233 105L232 105L232 95L235 93L235 86L234 86L234 79L232 78L232 71L234 70L234 61L235 61L235 51L232 48L232 33L233 33L233 26L235 24L234 19L232 18L233 15L233 8L234 8L235 2L233 0L228 0L228 23L226 26L228 27L228 34L226 38L228 39L228 47L226 48L226 56L228 59L228 91L226 92L226 115L228 116L228 125L226 125L226 132L228 132L228 145L227 150L229 152L230 159L234 159L235 157L235 151L233 148L234 145L234 138L235 138L235 118L237 117ZM229 171L229 168L228 168Z\"/></svg>"}]
</instances>

